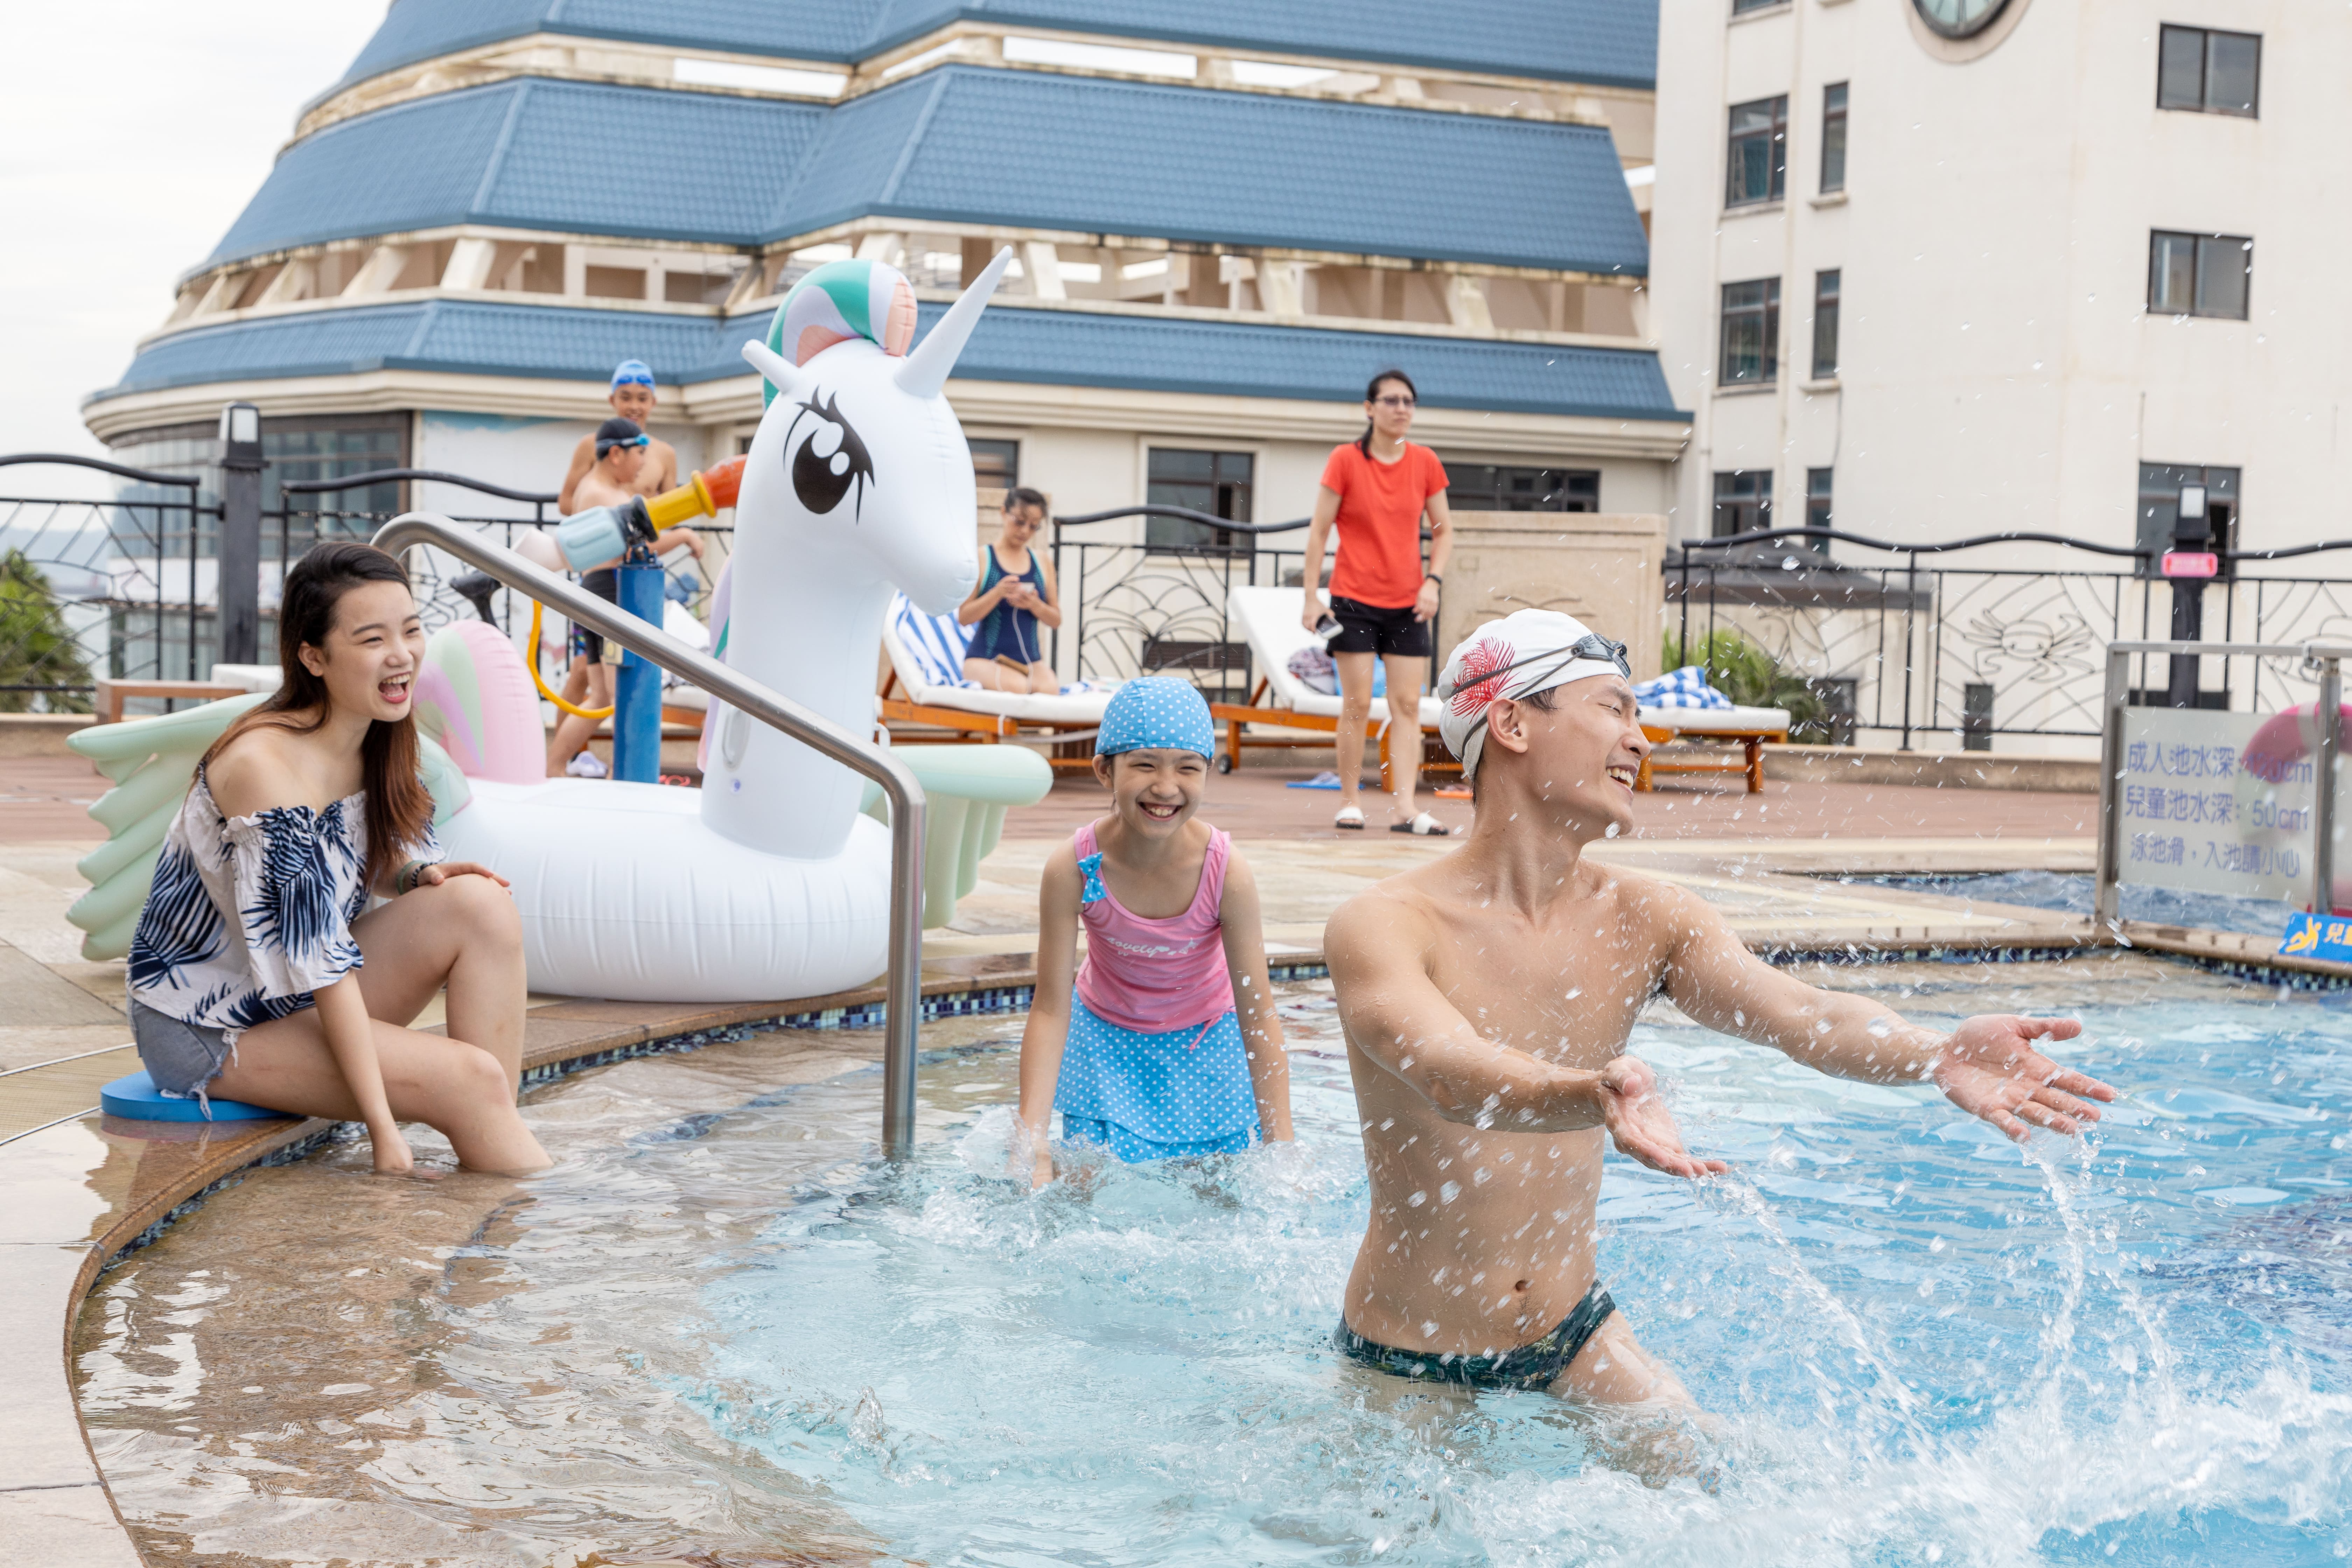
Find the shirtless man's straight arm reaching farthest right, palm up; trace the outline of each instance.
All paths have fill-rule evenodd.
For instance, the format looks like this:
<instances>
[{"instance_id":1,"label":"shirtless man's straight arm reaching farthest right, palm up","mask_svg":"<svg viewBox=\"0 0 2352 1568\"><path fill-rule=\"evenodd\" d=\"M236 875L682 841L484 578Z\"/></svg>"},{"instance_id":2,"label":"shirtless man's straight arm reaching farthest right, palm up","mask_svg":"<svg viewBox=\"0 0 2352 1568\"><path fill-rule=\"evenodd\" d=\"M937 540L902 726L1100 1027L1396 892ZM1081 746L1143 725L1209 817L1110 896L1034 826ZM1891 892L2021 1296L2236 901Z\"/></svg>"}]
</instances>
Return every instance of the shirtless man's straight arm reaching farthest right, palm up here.
<instances>
[{"instance_id":1,"label":"shirtless man's straight arm reaching farthest right, palm up","mask_svg":"<svg viewBox=\"0 0 2352 1568\"><path fill-rule=\"evenodd\" d=\"M1905 1023L1851 992L1828 992L1757 959L1722 914L1682 889L1661 889L1672 929L1668 997L1710 1030L1785 1051L1806 1067L1870 1084L1933 1081L1947 1100L2018 1143L2037 1126L2077 1133L2098 1121L2091 1100L2114 1088L2034 1051L2074 1039L2072 1018L1978 1013L1950 1034Z\"/></svg>"}]
</instances>

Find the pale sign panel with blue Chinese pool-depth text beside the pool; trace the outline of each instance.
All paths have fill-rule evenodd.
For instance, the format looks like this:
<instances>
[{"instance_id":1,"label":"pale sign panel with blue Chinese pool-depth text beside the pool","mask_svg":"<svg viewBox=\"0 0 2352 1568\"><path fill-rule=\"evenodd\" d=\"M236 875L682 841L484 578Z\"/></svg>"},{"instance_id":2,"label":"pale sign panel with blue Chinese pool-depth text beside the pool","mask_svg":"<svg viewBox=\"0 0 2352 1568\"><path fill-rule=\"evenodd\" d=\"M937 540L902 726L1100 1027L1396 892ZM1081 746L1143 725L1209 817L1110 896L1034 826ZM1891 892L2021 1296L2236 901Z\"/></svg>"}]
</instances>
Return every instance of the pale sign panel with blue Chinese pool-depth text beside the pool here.
<instances>
[{"instance_id":1,"label":"pale sign panel with blue Chinese pool-depth text beside the pool","mask_svg":"<svg viewBox=\"0 0 2352 1568\"><path fill-rule=\"evenodd\" d=\"M2124 712L2119 882L2310 903L2317 748L2277 745L2272 729L2249 757L2267 724L2201 708Z\"/></svg>"}]
</instances>

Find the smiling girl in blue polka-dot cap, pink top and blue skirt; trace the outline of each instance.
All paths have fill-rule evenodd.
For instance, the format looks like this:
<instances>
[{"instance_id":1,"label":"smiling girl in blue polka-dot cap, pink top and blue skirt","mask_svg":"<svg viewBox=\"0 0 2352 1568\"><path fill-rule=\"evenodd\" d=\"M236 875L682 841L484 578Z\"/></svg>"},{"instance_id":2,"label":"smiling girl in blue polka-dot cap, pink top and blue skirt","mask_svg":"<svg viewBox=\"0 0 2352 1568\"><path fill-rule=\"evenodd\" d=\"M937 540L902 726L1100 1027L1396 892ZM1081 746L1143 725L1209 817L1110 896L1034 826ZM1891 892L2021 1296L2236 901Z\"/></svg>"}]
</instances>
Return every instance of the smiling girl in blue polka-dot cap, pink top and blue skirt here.
<instances>
[{"instance_id":1,"label":"smiling girl in blue polka-dot cap, pink top and blue skirt","mask_svg":"<svg viewBox=\"0 0 2352 1568\"><path fill-rule=\"evenodd\" d=\"M1054 1180L1056 1110L1068 1143L1120 1161L1291 1138L1258 884L1197 820L1214 752L1209 705L1185 682L1131 679L1103 710L1094 776L1110 813L1054 851L1037 889L1011 1138L1011 1173L1037 1187Z\"/></svg>"}]
</instances>

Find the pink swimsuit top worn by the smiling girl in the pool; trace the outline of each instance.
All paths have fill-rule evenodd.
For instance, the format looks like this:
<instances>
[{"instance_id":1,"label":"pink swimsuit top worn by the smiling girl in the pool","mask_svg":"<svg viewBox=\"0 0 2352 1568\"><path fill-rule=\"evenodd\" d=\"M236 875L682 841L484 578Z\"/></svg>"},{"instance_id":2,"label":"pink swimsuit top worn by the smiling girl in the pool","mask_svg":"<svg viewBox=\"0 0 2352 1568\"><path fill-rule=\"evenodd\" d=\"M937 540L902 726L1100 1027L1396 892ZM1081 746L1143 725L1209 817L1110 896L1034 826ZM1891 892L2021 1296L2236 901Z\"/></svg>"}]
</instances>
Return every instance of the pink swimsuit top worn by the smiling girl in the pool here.
<instances>
[{"instance_id":1,"label":"pink swimsuit top worn by the smiling girl in the pool","mask_svg":"<svg viewBox=\"0 0 2352 1568\"><path fill-rule=\"evenodd\" d=\"M1192 905L1174 919L1143 919L1103 886L1103 851L1094 823L1077 830L1077 872L1084 877L1080 919L1087 922L1087 961L1077 966L1077 999L1103 1023L1138 1034L1164 1034L1216 1023L1232 1011L1225 969L1225 858L1232 839L1211 827Z\"/></svg>"}]
</instances>

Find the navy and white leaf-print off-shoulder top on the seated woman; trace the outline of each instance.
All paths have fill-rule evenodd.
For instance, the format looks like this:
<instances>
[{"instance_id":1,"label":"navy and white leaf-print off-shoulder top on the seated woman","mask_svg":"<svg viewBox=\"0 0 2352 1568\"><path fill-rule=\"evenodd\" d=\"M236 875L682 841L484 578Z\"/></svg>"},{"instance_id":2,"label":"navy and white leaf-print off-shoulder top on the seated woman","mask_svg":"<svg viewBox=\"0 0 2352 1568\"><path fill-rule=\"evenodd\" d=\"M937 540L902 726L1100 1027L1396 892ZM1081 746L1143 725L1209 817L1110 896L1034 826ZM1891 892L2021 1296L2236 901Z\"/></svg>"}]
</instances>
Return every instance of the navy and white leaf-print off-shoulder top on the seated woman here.
<instances>
[{"instance_id":1,"label":"navy and white leaf-print off-shoulder top on the seated woman","mask_svg":"<svg viewBox=\"0 0 2352 1568\"><path fill-rule=\"evenodd\" d=\"M433 827L407 858L442 858ZM299 1013L310 992L360 969L350 922L367 910L365 865L365 795L325 811L223 816L198 769L132 936L132 1001L221 1030L230 1046Z\"/></svg>"}]
</instances>

